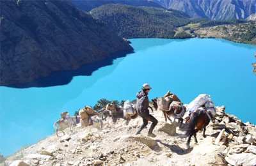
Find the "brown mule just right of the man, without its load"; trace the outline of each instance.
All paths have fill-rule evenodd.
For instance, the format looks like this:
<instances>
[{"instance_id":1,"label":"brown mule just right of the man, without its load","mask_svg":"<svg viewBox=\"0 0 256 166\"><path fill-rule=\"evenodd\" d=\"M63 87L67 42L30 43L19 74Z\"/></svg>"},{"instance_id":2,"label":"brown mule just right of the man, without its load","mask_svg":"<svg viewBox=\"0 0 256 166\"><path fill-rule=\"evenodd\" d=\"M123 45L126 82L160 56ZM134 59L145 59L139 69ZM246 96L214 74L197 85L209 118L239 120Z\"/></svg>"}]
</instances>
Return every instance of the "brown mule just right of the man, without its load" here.
<instances>
[{"instance_id":1,"label":"brown mule just right of the man, without its load","mask_svg":"<svg viewBox=\"0 0 256 166\"><path fill-rule=\"evenodd\" d=\"M152 99L154 108L157 110L158 109L158 105L157 105L157 98ZM182 103L175 103L175 101L170 102L169 105L169 110L162 110L163 114L164 114L164 119L165 121L167 121L167 118L169 119L169 121L172 123L172 120L170 119L170 116L174 117L175 119L179 119L180 122L180 126L182 126L183 123L183 119L182 117L184 116L184 113L186 112L186 107L184 107L184 105L182 105Z\"/></svg>"}]
</instances>

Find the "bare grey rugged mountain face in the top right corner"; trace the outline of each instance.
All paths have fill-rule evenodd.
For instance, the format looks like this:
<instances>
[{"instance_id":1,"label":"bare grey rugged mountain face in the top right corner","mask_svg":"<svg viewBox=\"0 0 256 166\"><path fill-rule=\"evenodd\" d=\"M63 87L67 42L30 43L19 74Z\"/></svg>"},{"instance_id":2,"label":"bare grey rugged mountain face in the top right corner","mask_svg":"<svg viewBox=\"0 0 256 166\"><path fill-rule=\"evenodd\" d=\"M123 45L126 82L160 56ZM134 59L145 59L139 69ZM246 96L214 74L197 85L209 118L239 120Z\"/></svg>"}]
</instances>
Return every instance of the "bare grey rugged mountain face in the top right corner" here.
<instances>
[{"instance_id":1,"label":"bare grey rugged mountain face in the top right corner","mask_svg":"<svg viewBox=\"0 0 256 166\"><path fill-rule=\"evenodd\" d=\"M255 0L153 0L165 8L180 10L193 18L246 19L256 13Z\"/></svg>"}]
</instances>

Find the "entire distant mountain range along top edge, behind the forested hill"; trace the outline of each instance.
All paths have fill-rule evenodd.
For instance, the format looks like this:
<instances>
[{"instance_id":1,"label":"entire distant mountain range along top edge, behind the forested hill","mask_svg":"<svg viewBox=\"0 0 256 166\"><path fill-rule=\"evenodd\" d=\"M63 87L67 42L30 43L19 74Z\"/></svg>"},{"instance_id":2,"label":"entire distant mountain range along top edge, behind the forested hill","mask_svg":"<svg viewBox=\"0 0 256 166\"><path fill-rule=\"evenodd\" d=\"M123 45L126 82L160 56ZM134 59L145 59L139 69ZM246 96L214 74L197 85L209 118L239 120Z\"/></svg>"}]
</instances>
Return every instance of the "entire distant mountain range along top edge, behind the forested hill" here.
<instances>
[{"instance_id":1,"label":"entire distant mountain range along top edge, behind the forested hill","mask_svg":"<svg viewBox=\"0 0 256 166\"><path fill-rule=\"evenodd\" d=\"M84 11L90 11L104 4L129 4L179 10L193 19L246 19L256 13L256 0L72 0L72 2Z\"/></svg>"}]
</instances>

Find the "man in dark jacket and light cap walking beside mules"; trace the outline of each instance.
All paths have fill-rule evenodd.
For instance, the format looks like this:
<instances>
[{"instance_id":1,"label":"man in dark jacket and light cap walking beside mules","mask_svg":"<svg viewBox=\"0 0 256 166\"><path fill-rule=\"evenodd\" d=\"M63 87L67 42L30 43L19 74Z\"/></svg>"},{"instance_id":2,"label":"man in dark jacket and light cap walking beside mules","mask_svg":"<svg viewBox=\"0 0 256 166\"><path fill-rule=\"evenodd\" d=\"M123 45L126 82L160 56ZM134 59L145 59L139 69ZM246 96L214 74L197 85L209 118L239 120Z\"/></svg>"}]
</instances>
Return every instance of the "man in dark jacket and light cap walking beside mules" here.
<instances>
[{"instance_id":1,"label":"man in dark jacket and light cap walking beside mules","mask_svg":"<svg viewBox=\"0 0 256 166\"><path fill-rule=\"evenodd\" d=\"M148 92L152 89L149 84L143 84L142 91L139 91L137 93L137 103L136 103L136 112L142 117L143 124L141 124L138 132L136 132L136 135L140 134L141 130L145 128L148 124L148 121L152 121L152 124L148 130L148 136L149 137L156 137L154 135L153 130L158 123L157 119L149 114L149 100L148 100Z\"/></svg>"}]
</instances>

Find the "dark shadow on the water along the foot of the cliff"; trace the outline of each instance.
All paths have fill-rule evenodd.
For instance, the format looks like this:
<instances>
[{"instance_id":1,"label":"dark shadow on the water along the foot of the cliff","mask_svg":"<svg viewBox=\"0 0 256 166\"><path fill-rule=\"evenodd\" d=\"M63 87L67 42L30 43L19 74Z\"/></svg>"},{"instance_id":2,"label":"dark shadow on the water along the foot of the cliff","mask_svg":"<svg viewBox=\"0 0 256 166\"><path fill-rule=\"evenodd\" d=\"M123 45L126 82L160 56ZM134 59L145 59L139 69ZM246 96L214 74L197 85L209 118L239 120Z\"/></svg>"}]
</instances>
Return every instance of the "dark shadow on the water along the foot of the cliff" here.
<instances>
[{"instance_id":1,"label":"dark shadow on the water along the foot of the cliff","mask_svg":"<svg viewBox=\"0 0 256 166\"><path fill-rule=\"evenodd\" d=\"M32 82L27 82L23 84L8 85L6 87L28 88L28 87L50 87L50 86L66 85L70 83L73 77L75 76L79 76L79 75L90 76L92 75L93 72L95 72L99 68L113 64L114 59L117 59L119 57L125 57L127 56L127 54L132 54L132 53L134 52L133 51L118 52L102 61L98 61L96 63L91 63L91 64L84 64L77 70L52 72L52 74L49 75L48 77L43 77L40 79L36 79Z\"/></svg>"}]
</instances>

